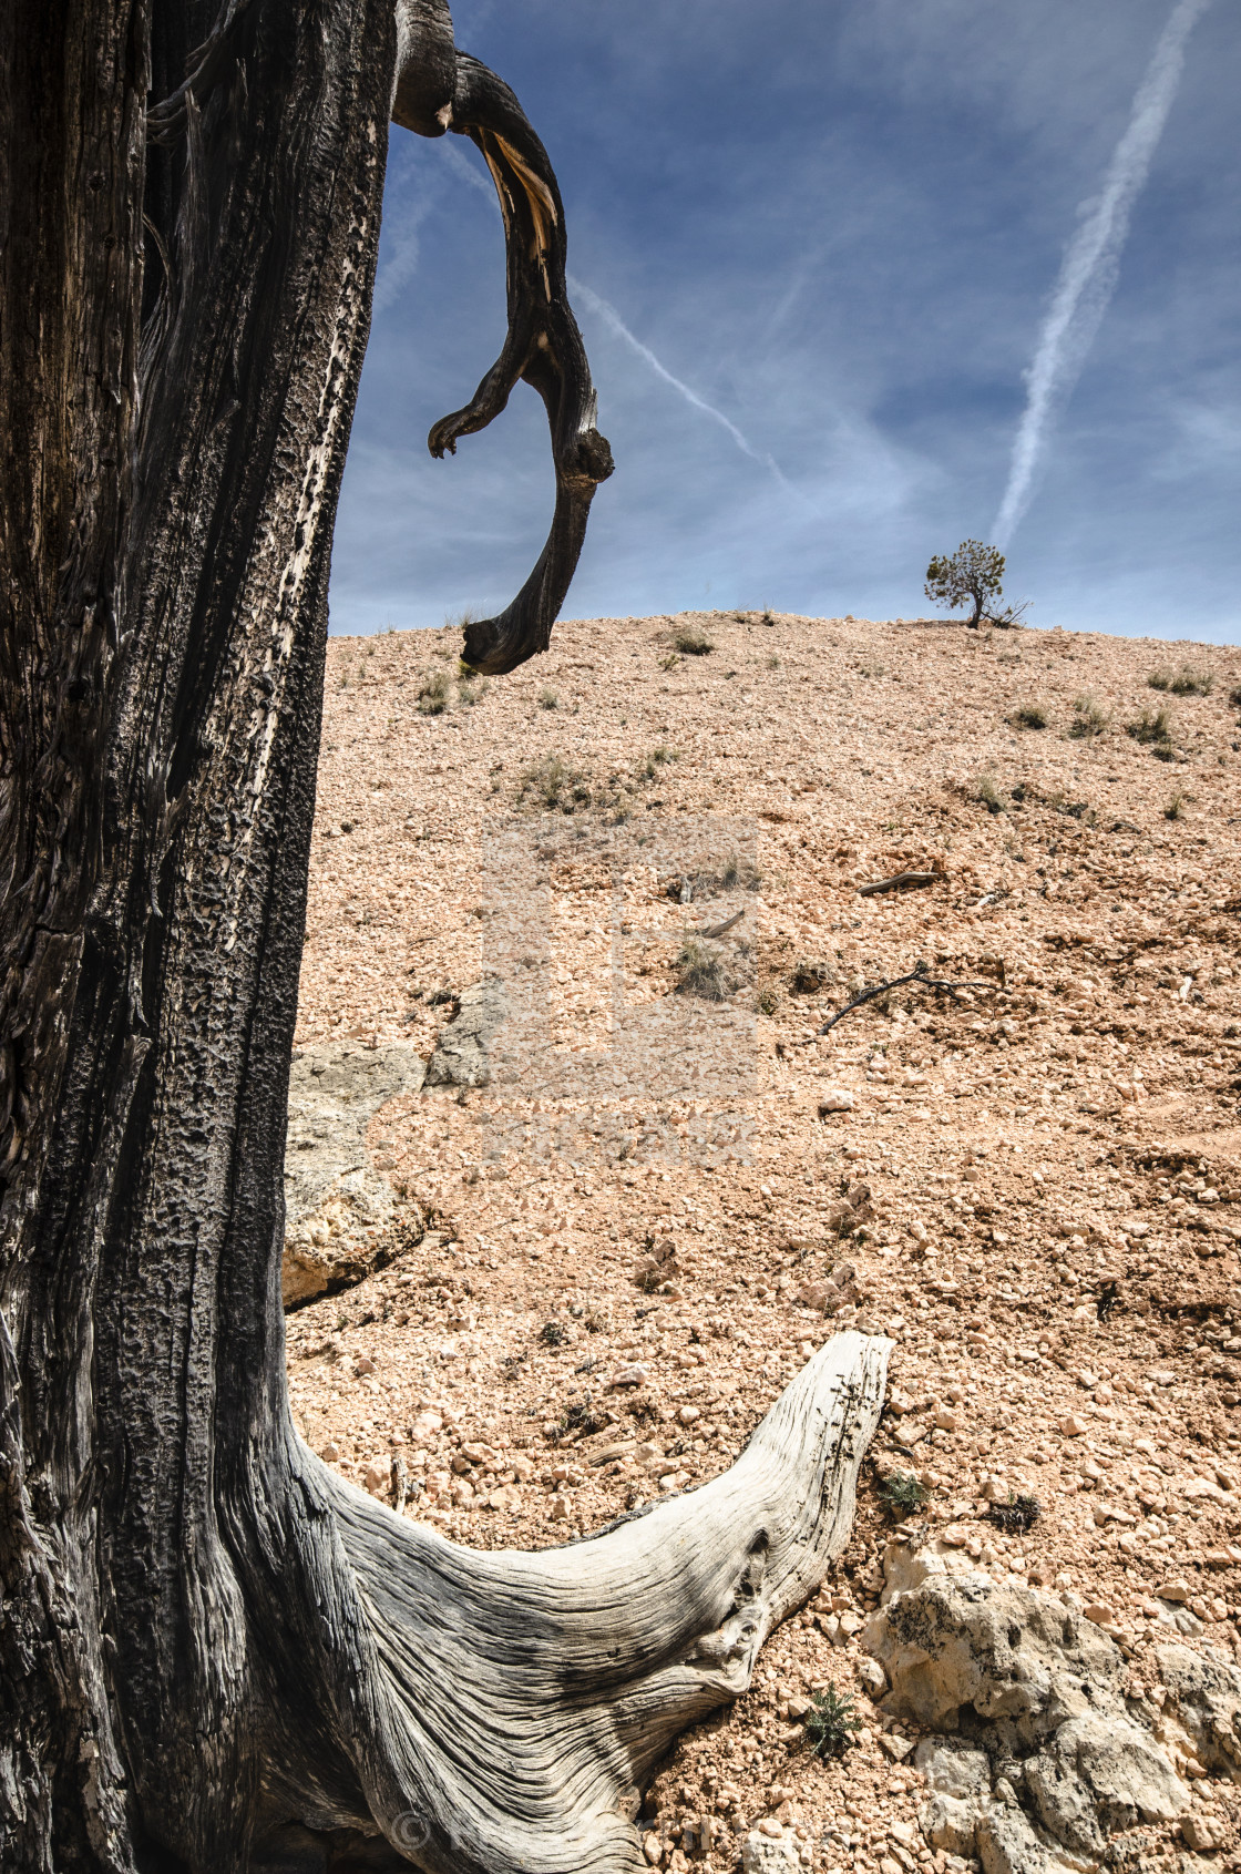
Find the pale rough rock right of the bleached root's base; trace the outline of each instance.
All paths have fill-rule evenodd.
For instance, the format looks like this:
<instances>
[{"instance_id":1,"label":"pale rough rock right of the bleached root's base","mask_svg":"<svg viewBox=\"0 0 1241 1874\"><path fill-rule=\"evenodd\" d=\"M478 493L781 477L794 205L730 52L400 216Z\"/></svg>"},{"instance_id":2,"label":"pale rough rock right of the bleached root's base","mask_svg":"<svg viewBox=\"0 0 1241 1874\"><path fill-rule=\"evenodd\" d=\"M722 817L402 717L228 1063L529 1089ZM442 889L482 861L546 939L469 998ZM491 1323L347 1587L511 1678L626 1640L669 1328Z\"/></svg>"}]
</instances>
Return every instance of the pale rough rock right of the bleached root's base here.
<instances>
[{"instance_id":1,"label":"pale rough rock right of the bleached root's base","mask_svg":"<svg viewBox=\"0 0 1241 1874\"><path fill-rule=\"evenodd\" d=\"M977 1853L986 1874L1046 1874L1100 1861L1114 1835L1189 1807L1168 1750L1130 1717L1119 1647L1072 1597L898 1546L887 1580L866 1632L890 1683L883 1709L950 1733L917 1758L932 1848ZM1219 1720L1222 1688L1192 1683L1187 1709Z\"/></svg>"}]
</instances>

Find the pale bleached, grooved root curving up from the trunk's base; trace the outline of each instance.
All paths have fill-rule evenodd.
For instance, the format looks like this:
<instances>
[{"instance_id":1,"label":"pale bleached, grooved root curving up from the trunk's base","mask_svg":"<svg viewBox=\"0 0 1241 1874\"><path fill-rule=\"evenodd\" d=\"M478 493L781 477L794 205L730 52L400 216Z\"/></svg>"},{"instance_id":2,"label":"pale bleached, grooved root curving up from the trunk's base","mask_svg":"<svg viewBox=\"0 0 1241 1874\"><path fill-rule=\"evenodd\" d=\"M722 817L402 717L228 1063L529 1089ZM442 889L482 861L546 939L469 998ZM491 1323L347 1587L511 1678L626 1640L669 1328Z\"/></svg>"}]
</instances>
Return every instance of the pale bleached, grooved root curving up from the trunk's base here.
<instances>
[{"instance_id":1,"label":"pale bleached, grooved root curving up from the trunk's base","mask_svg":"<svg viewBox=\"0 0 1241 1874\"><path fill-rule=\"evenodd\" d=\"M356 1582L337 1643L388 1840L435 1874L634 1874L652 1765L849 1539L889 1347L836 1334L729 1471L557 1550L457 1548L302 1450Z\"/></svg>"}]
</instances>

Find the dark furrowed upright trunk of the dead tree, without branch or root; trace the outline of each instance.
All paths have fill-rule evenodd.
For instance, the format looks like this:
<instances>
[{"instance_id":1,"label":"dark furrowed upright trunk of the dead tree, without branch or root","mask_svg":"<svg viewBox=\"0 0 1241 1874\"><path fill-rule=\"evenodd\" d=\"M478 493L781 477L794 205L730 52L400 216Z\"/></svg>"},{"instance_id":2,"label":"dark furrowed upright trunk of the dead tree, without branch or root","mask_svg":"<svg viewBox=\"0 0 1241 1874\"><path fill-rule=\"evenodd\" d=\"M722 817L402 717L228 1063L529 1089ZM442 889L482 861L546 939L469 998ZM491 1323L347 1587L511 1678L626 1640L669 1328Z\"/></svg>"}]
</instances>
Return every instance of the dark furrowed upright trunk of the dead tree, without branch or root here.
<instances>
[{"instance_id":1,"label":"dark furrowed upright trunk of the dead tree, without branch or root","mask_svg":"<svg viewBox=\"0 0 1241 1874\"><path fill-rule=\"evenodd\" d=\"M242 1867L262 1615L225 1503L285 1435L283 1096L396 28L253 0L4 30L0 1861ZM148 126L148 66L193 45Z\"/></svg>"}]
</instances>

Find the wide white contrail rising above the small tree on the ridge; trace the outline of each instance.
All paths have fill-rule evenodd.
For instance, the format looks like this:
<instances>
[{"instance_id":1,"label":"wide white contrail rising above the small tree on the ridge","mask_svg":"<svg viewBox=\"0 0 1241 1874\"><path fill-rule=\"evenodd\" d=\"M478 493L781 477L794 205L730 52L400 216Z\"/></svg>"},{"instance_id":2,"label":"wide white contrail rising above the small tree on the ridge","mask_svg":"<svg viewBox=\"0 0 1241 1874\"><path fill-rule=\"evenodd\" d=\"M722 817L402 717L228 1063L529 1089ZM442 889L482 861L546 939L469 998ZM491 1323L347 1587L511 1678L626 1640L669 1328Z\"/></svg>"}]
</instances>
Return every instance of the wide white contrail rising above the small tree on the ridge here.
<instances>
[{"instance_id":1,"label":"wide white contrail rising above the small tree on the ridge","mask_svg":"<svg viewBox=\"0 0 1241 1874\"><path fill-rule=\"evenodd\" d=\"M1132 206L1145 184L1155 146L1181 82L1185 45L1211 0L1177 0L1138 86L1125 135L1115 146L1102 191L1072 236L1055 281L1052 305L1025 373L1025 412L1012 444L1009 485L992 540L1005 547L1025 513L1055 409L1072 394L1108 307L1129 234Z\"/></svg>"}]
</instances>

